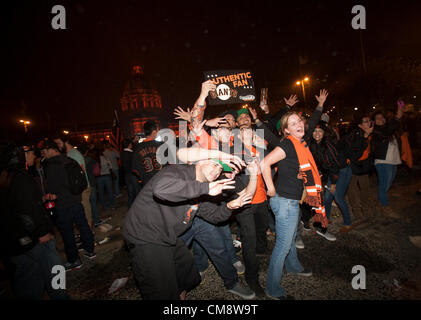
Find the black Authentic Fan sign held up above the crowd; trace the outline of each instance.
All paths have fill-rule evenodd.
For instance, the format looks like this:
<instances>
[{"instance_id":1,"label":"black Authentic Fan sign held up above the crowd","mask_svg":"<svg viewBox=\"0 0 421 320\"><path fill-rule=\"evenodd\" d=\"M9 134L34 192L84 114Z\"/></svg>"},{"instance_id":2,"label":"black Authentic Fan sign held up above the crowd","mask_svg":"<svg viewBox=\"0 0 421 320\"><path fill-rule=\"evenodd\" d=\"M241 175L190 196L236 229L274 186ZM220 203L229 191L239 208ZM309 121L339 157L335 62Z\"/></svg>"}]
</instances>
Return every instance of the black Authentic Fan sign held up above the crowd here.
<instances>
[{"instance_id":1,"label":"black Authentic Fan sign held up above the crowd","mask_svg":"<svg viewBox=\"0 0 421 320\"><path fill-rule=\"evenodd\" d=\"M254 82L249 70L204 72L205 80L213 80L216 91L209 92L209 105L247 103L256 100Z\"/></svg>"}]
</instances>

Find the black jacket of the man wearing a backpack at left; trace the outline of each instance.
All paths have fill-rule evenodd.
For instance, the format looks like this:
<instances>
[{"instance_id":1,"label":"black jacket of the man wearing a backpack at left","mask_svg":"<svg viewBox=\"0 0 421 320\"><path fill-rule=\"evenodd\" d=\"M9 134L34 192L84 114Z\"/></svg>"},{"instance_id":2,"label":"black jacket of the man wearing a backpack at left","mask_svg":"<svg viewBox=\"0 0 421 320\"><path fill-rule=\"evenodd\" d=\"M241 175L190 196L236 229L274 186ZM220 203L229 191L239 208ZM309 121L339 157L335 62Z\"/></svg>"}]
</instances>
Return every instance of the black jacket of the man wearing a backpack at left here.
<instances>
[{"instance_id":1,"label":"black jacket of the man wearing a backpack at left","mask_svg":"<svg viewBox=\"0 0 421 320\"><path fill-rule=\"evenodd\" d=\"M46 193L57 196L56 208L63 209L74 206L82 202L82 195L74 195L69 190L69 180L67 178L64 162L68 161L67 156L60 154L47 159L45 176L47 179Z\"/></svg>"}]
</instances>

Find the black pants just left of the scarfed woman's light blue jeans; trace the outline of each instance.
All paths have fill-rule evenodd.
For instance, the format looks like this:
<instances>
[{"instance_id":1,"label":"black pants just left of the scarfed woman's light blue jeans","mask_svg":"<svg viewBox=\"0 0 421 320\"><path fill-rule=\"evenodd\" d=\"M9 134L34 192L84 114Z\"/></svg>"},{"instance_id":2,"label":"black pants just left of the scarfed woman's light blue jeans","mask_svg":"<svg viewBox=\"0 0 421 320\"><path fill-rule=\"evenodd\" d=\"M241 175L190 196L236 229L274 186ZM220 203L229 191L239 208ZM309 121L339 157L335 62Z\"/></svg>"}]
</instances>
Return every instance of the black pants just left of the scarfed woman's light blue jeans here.
<instances>
[{"instance_id":1,"label":"black pants just left of the scarfed woman's light blue jeans","mask_svg":"<svg viewBox=\"0 0 421 320\"><path fill-rule=\"evenodd\" d=\"M256 226L254 214L256 206L248 206L237 213L236 219L240 226L241 247L243 250L244 266L246 267L247 283L258 281L259 261L256 256Z\"/></svg>"}]
</instances>

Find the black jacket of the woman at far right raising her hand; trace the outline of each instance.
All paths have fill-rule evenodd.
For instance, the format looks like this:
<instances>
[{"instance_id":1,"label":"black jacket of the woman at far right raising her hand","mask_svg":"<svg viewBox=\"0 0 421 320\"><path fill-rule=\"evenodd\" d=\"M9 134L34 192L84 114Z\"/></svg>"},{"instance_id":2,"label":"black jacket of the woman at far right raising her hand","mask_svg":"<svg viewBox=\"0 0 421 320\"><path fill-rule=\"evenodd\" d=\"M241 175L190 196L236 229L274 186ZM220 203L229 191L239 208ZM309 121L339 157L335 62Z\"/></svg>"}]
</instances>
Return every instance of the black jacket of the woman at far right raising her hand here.
<instances>
[{"instance_id":1,"label":"black jacket of the woman at far right raising her hand","mask_svg":"<svg viewBox=\"0 0 421 320\"><path fill-rule=\"evenodd\" d=\"M393 138L393 135L395 135L399 129L400 121L397 119L390 120L383 126L374 126L372 134L374 159L386 159L389 141ZM400 139L397 140L399 143Z\"/></svg>"}]
</instances>

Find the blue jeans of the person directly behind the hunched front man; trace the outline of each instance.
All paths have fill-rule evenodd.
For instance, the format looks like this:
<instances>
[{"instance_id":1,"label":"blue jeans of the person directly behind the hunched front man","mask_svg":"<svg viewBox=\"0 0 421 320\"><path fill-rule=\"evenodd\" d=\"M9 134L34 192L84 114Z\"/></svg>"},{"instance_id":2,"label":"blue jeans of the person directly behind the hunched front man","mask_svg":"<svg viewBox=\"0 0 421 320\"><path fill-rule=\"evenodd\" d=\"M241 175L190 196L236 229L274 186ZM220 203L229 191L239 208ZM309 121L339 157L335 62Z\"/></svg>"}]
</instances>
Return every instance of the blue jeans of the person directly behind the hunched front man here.
<instances>
[{"instance_id":1,"label":"blue jeans of the person directly behind the hunched front man","mask_svg":"<svg viewBox=\"0 0 421 320\"><path fill-rule=\"evenodd\" d=\"M228 259L231 261L231 263L234 264L237 261L240 261L237 254L235 253L234 245L232 243L231 229L229 227L229 223L226 223L224 225L218 225L216 226L216 229L221 235L222 239L224 240L225 248L228 252ZM193 241L193 257L197 270L199 270L200 272L205 271L209 267L208 255L197 241Z\"/></svg>"}]
</instances>

